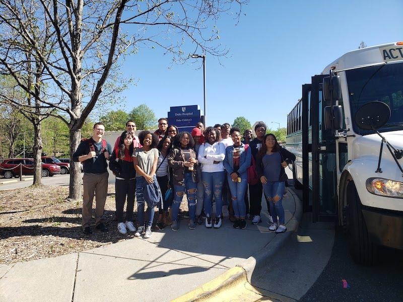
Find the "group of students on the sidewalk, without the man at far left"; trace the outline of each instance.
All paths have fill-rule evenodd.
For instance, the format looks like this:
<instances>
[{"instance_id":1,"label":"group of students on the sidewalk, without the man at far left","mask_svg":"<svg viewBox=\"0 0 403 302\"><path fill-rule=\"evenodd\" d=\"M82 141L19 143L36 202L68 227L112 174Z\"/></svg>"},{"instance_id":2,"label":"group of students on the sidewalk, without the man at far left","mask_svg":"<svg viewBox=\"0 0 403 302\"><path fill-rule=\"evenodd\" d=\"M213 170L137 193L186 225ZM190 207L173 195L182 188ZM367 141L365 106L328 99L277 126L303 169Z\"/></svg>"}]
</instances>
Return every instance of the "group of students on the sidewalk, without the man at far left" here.
<instances>
[{"instance_id":1,"label":"group of students on the sidewalk, without the man at far left","mask_svg":"<svg viewBox=\"0 0 403 302\"><path fill-rule=\"evenodd\" d=\"M154 133L144 130L137 137L130 131L130 125L135 123L128 121L110 157L109 168L116 176L120 233L126 234L128 230L135 232L135 236L144 233L144 238L150 238L156 207L158 229L170 225L173 231L178 231L179 207L185 194L189 229L203 223L207 228L219 229L226 213L234 228L245 229L248 212L252 223L261 221L262 191L270 209L269 230L286 231L282 206L287 180L284 168L295 156L279 145L274 134L265 134L264 124L255 126L256 138L252 139L252 131L248 129L242 140L240 129L231 128L228 123L206 129L198 123L191 133L179 132L165 118L158 123L159 129ZM133 224L135 195L137 228Z\"/></svg>"}]
</instances>

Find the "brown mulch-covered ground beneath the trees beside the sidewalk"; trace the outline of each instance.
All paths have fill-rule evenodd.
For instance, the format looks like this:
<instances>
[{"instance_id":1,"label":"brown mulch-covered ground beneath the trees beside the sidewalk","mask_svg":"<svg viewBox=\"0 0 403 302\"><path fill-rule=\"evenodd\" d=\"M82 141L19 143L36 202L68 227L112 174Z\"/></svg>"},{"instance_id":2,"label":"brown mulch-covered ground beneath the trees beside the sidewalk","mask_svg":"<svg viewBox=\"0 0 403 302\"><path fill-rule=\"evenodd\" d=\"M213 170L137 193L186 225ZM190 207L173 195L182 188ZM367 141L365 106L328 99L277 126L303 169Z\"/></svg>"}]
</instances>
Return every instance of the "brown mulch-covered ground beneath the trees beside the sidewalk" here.
<instances>
[{"instance_id":1,"label":"brown mulch-covered ground beneath the trees beside the sidewalk","mask_svg":"<svg viewBox=\"0 0 403 302\"><path fill-rule=\"evenodd\" d=\"M0 191L0 263L55 257L133 238L132 232L122 235L117 231L114 193L115 186L108 185L104 215L109 232L92 227L93 234L85 235L81 228L82 202L65 200L68 186ZM187 211L186 202L181 203L181 210ZM158 210L155 218L157 215ZM134 217L136 225L136 203Z\"/></svg>"}]
</instances>

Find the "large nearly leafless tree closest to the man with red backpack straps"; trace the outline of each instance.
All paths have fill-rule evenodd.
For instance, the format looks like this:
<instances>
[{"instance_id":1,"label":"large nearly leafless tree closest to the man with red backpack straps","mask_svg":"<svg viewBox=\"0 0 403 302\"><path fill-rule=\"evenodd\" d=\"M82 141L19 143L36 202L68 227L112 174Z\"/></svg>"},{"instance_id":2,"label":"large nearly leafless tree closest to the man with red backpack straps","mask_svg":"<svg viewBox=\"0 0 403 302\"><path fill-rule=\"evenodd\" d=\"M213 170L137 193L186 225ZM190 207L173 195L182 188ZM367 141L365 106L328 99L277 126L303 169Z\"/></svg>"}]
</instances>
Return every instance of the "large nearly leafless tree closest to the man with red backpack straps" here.
<instances>
[{"instance_id":1,"label":"large nearly leafless tree closest to the man with red backpack straps","mask_svg":"<svg viewBox=\"0 0 403 302\"><path fill-rule=\"evenodd\" d=\"M234 16L238 22L245 2L0 0L0 32L12 32L20 43L32 50L43 67L42 77L37 82L46 85L47 94L32 91L19 81L22 71L9 56L9 49L13 48L12 37L1 41L0 65L3 72L12 74L18 85L38 102L40 110L58 110L59 114L47 114L53 114L69 125L72 155L80 142L85 119L101 97L114 93L115 86L108 86L108 83L116 83L113 79L116 73L111 71L113 68L118 70L122 55L137 52L142 46L161 47L174 62L184 62L192 53L200 51L225 55L228 50L219 44L215 21L221 13L231 13L231 5L236 4ZM27 19L32 19L32 15L39 32L50 28L45 48L27 30ZM78 164L72 165L70 176L69 198L80 199Z\"/></svg>"}]
</instances>

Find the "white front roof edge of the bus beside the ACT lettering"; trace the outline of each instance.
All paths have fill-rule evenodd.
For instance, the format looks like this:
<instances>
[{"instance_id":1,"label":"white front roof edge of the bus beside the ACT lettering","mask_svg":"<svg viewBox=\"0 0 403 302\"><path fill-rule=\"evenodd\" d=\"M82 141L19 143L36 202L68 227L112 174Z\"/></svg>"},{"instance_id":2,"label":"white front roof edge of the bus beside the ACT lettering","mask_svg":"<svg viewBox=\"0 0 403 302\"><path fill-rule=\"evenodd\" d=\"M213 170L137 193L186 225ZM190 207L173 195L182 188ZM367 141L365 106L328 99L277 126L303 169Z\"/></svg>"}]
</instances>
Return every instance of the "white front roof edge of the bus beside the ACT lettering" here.
<instances>
[{"instance_id":1,"label":"white front roof edge of the bus beside the ACT lettering","mask_svg":"<svg viewBox=\"0 0 403 302\"><path fill-rule=\"evenodd\" d=\"M328 74L330 68L332 69L334 68L334 71L338 71L338 70L374 65L377 63L381 64L385 62L384 56L382 56L381 48L395 46L397 45L396 43L397 42L381 44L349 51L346 54L342 55L337 60L334 60L329 65L327 65L323 69L322 74ZM397 46L397 48L400 48L400 50L402 49L402 47L403 47L402 45Z\"/></svg>"}]
</instances>

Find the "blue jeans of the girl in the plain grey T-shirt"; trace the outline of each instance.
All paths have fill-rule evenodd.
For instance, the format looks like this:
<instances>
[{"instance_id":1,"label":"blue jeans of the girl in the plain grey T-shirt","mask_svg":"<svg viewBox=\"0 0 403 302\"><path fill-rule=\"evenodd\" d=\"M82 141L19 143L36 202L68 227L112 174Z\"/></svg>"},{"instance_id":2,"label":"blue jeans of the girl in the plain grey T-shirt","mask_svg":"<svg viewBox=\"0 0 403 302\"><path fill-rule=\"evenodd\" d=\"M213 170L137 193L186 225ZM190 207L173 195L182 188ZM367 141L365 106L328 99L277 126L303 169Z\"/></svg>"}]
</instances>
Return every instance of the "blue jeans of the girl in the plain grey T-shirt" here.
<instances>
[{"instance_id":1,"label":"blue jeans of the girl in the plain grey T-shirt","mask_svg":"<svg viewBox=\"0 0 403 302\"><path fill-rule=\"evenodd\" d=\"M157 182L157 177L154 176L154 182ZM159 200L146 200L147 195L144 190L150 190L152 187L148 186L148 182L143 176L136 177L136 198L137 198L137 222L139 226L144 225L144 207L147 202L147 225L151 226L154 220L154 207ZM148 194L151 195L151 194Z\"/></svg>"}]
</instances>

